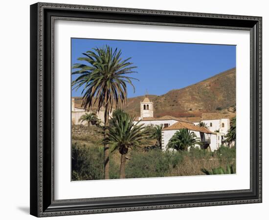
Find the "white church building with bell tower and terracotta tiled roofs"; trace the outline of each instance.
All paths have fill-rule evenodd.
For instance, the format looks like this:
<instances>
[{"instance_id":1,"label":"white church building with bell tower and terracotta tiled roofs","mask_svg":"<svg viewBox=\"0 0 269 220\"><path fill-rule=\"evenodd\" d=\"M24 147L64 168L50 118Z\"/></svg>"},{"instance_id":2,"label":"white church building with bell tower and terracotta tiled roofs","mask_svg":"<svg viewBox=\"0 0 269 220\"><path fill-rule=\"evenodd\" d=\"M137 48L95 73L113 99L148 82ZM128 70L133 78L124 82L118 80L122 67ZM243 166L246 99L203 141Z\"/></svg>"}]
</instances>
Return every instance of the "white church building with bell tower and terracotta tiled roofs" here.
<instances>
[{"instance_id":1,"label":"white church building with bell tower and terracotta tiled roofs","mask_svg":"<svg viewBox=\"0 0 269 220\"><path fill-rule=\"evenodd\" d=\"M203 143L203 148L210 147L211 151L217 150L224 144L224 136L230 127L229 118L220 118L220 114L210 113L202 114L202 118L194 122L190 122L188 118L177 118L173 116L154 117L154 103L145 96L140 102L140 117L135 121L144 125L163 125L162 129L162 150L167 149L167 144L171 137L180 129L188 129L194 132L200 141ZM208 128L198 126L199 122L204 122ZM199 147L197 145L195 147Z\"/></svg>"}]
</instances>

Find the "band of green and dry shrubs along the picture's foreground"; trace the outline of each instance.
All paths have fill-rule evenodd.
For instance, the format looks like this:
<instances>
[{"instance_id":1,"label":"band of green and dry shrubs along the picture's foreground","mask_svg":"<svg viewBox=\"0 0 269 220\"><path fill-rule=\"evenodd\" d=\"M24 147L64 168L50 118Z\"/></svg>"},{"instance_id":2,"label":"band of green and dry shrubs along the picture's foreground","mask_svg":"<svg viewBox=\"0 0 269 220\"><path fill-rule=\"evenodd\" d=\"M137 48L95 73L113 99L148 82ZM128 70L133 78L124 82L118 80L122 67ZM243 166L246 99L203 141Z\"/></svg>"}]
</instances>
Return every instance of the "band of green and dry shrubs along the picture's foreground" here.
<instances>
[{"instance_id":1,"label":"band of green and dry shrubs along the picture's foreground","mask_svg":"<svg viewBox=\"0 0 269 220\"><path fill-rule=\"evenodd\" d=\"M227 165L233 164L235 172L235 148L220 147L215 152L198 148L189 151L149 149L146 152L130 151L126 160L126 178L194 176L202 175L202 169L222 174L229 173ZM104 178L104 150L102 145L81 141L72 143L72 180ZM110 156L110 178L119 178L120 154ZM223 169L226 168L226 169ZM223 169L223 171L221 171Z\"/></svg>"}]
</instances>

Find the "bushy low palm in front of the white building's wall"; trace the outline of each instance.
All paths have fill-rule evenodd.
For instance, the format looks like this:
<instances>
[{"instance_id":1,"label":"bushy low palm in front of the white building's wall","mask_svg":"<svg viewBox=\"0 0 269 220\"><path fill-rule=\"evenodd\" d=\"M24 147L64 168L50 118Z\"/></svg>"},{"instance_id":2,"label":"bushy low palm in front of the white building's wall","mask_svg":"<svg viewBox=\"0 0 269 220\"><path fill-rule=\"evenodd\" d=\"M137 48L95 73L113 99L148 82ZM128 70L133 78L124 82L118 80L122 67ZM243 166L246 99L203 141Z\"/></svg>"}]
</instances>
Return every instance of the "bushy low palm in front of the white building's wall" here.
<instances>
[{"instance_id":1,"label":"bushy low palm in front of the white building's wall","mask_svg":"<svg viewBox=\"0 0 269 220\"><path fill-rule=\"evenodd\" d=\"M201 144L196 134L188 129L180 129L169 140L167 149L187 151L188 147L194 147L195 144Z\"/></svg>"}]
</instances>

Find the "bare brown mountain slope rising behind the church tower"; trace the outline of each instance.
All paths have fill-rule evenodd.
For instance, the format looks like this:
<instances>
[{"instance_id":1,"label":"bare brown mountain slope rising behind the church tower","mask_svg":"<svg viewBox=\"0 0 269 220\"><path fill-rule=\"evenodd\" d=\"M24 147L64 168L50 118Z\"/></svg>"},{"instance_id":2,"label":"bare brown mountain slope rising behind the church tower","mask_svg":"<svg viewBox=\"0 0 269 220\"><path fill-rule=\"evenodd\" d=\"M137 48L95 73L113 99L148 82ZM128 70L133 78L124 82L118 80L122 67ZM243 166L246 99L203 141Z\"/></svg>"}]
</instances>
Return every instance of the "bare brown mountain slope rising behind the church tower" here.
<instances>
[{"instance_id":1,"label":"bare brown mountain slope rising behind the church tower","mask_svg":"<svg viewBox=\"0 0 269 220\"><path fill-rule=\"evenodd\" d=\"M154 102L154 115L197 116L206 111L227 109L235 105L235 68L219 73L194 85L173 89L166 94L148 95ZM143 96L129 98L124 110L140 114L140 101ZM179 115L179 112L181 113Z\"/></svg>"}]
</instances>

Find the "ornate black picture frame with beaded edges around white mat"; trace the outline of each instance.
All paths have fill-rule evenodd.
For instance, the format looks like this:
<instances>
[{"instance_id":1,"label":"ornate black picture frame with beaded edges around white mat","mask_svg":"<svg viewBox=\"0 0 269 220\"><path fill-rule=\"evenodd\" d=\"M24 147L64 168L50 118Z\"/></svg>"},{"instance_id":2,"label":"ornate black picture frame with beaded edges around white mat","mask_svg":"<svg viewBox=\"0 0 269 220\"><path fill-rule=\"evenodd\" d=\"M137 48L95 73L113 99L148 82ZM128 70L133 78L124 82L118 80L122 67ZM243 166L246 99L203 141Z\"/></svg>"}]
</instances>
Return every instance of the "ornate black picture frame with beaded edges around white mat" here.
<instances>
[{"instance_id":1,"label":"ornate black picture frame with beaded edges around white mat","mask_svg":"<svg viewBox=\"0 0 269 220\"><path fill-rule=\"evenodd\" d=\"M250 189L54 199L54 21L95 21L250 31ZM81 215L262 202L262 18L87 5L30 6L30 214Z\"/></svg>"}]
</instances>

